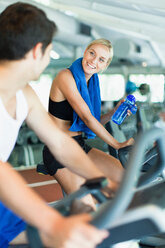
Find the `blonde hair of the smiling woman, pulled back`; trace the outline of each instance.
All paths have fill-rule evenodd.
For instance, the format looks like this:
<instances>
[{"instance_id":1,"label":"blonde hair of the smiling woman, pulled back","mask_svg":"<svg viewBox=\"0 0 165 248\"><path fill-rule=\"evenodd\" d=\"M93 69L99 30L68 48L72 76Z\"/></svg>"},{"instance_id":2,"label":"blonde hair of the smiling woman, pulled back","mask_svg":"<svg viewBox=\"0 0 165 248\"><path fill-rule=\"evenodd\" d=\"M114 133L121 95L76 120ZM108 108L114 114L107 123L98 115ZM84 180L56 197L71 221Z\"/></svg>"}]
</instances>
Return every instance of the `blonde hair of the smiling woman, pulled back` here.
<instances>
[{"instance_id":1,"label":"blonde hair of the smiling woman, pulled back","mask_svg":"<svg viewBox=\"0 0 165 248\"><path fill-rule=\"evenodd\" d=\"M112 58L113 58L113 47L112 47L112 43L109 40L106 40L104 38L100 38L100 39L96 39L91 41L91 43L89 43L89 45L87 46L86 50L88 50L91 46L95 45L95 44L101 44L106 46L109 49L109 59L107 61L107 66L106 68L110 65Z\"/></svg>"}]
</instances>

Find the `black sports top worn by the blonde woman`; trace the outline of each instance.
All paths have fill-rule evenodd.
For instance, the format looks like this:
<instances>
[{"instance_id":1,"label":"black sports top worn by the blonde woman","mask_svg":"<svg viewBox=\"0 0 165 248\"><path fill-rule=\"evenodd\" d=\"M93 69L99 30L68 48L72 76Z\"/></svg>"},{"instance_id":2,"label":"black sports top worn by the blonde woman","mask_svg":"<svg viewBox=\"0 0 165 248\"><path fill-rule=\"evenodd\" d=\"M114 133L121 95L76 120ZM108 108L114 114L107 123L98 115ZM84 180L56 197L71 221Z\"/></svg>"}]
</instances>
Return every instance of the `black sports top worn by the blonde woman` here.
<instances>
[{"instance_id":1,"label":"black sports top worn by the blonde woman","mask_svg":"<svg viewBox=\"0 0 165 248\"><path fill-rule=\"evenodd\" d=\"M50 114L59 119L73 121L73 109L67 100L54 102L49 98L48 110Z\"/></svg>"}]
</instances>

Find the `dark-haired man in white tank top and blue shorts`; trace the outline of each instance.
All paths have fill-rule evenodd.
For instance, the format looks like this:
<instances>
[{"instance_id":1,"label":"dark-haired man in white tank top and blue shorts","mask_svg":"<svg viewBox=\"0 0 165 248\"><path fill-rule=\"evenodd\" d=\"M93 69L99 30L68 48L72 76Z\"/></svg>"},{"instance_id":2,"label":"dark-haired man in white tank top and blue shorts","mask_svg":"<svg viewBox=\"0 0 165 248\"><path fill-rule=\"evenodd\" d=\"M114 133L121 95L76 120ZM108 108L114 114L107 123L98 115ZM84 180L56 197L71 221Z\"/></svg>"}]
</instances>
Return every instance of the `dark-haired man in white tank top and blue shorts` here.
<instances>
[{"instance_id":1,"label":"dark-haired man in white tank top and blue shorts","mask_svg":"<svg viewBox=\"0 0 165 248\"><path fill-rule=\"evenodd\" d=\"M30 4L15 3L0 15L0 247L3 248L25 230L26 222L39 229L48 247L95 247L107 236L106 231L88 224L89 215L64 218L47 206L7 163L25 120L71 171L86 179L103 176L76 142L53 124L28 85L48 65L55 31L55 24L45 13Z\"/></svg>"}]
</instances>

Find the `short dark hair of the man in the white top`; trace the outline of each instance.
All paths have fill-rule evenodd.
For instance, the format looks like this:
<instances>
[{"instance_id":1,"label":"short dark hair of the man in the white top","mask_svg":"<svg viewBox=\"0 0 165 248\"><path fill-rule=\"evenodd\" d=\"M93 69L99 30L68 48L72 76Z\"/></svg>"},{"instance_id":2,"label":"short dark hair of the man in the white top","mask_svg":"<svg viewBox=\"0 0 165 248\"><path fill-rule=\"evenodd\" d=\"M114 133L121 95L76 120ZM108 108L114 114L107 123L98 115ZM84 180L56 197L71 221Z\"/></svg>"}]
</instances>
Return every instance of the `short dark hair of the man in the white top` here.
<instances>
[{"instance_id":1,"label":"short dark hair of the man in the white top","mask_svg":"<svg viewBox=\"0 0 165 248\"><path fill-rule=\"evenodd\" d=\"M41 9L21 2L8 6L0 14L0 60L22 59L39 42L44 52L56 31Z\"/></svg>"}]
</instances>

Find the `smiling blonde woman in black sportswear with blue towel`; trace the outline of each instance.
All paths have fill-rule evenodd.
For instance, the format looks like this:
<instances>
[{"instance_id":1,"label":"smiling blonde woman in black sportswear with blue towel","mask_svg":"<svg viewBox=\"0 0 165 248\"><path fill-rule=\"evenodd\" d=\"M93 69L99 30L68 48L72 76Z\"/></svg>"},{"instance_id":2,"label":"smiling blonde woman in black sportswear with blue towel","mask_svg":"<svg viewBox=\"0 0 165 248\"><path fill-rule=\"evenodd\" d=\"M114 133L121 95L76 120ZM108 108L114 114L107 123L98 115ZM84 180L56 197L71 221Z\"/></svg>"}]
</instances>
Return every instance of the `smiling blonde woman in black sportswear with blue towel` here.
<instances>
[{"instance_id":1,"label":"smiling blonde woman in black sportswear with blue towel","mask_svg":"<svg viewBox=\"0 0 165 248\"><path fill-rule=\"evenodd\" d=\"M108 40L92 41L83 58L76 60L70 68L60 71L55 77L50 91L49 113L53 121L73 137L95 165L109 177L112 190L115 191L123 174L119 160L85 144L86 137L94 138L96 135L115 149L133 143L132 138L119 143L103 126L118 106L100 118L101 99L97 73L108 67L112 57L113 49ZM43 150L43 160L45 168L38 168L38 171L48 170L67 194L82 184L83 179L55 161L47 147Z\"/></svg>"}]
</instances>

